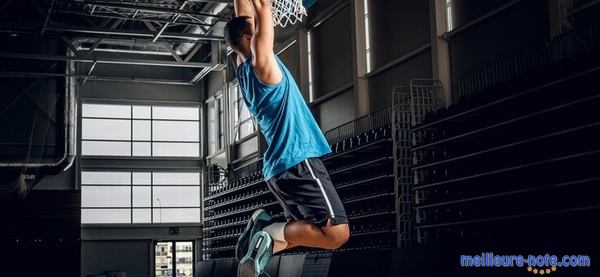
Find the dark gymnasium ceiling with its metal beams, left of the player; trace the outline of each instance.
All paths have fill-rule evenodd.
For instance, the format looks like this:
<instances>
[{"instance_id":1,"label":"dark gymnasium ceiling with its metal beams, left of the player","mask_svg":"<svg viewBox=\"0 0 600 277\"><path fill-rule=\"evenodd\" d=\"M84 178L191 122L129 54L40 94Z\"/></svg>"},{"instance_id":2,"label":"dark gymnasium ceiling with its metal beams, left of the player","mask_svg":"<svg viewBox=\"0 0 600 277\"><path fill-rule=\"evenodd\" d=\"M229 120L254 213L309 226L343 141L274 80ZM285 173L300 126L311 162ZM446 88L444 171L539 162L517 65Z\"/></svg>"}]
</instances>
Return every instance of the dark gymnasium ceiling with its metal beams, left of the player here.
<instances>
[{"instance_id":1,"label":"dark gymnasium ceiling with its metal beams, left of the player","mask_svg":"<svg viewBox=\"0 0 600 277\"><path fill-rule=\"evenodd\" d=\"M185 82L195 84L222 66L211 56L224 45L223 26L233 14L232 2L4 0L0 2L2 40L53 39L73 54L65 58L3 49L0 59L75 61L88 64L89 74L93 74L89 64L103 63L190 68L193 78Z\"/></svg>"}]
</instances>

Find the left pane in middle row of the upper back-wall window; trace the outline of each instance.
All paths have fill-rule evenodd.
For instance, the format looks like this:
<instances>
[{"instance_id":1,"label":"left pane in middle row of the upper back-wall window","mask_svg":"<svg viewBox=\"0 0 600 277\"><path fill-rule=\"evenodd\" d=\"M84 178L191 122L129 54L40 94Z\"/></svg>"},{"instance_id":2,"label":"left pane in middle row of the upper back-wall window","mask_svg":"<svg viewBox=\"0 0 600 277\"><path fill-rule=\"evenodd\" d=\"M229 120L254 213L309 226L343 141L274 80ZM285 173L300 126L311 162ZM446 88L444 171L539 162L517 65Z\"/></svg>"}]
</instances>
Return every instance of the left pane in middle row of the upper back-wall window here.
<instances>
[{"instance_id":1,"label":"left pane in middle row of the upper back-wall window","mask_svg":"<svg viewBox=\"0 0 600 277\"><path fill-rule=\"evenodd\" d=\"M123 119L82 119L81 138L98 140L129 140L131 121Z\"/></svg>"}]
</instances>

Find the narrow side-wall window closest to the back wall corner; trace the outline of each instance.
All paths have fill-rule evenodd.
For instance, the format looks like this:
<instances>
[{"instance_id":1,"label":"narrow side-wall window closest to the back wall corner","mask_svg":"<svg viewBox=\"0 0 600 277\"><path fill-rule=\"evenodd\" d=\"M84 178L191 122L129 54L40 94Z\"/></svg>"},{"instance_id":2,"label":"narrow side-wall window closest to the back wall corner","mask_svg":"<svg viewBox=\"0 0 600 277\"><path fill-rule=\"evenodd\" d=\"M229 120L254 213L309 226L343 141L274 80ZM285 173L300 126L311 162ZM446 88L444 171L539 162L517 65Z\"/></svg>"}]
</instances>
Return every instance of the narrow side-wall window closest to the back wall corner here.
<instances>
[{"instance_id":1,"label":"narrow side-wall window closest to the back wall corner","mask_svg":"<svg viewBox=\"0 0 600 277\"><path fill-rule=\"evenodd\" d=\"M223 93L208 100L208 153L214 154L225 146L225 111Z\"/></svg>"}]
</instances>

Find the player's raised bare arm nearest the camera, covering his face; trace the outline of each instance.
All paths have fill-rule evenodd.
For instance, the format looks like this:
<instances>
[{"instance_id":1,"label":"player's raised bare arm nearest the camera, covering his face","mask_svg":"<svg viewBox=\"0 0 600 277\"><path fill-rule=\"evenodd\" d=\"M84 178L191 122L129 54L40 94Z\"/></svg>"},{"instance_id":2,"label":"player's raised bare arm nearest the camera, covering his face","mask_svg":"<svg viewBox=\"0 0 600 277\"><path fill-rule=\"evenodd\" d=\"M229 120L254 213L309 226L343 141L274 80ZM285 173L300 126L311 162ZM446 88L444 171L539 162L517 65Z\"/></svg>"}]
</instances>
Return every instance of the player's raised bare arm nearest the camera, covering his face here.
<instances>
[{"instance_id":1,"label":"player's raised bare arm nearest the camera, covering his face","mask_svg":"<svg viewBox=\"0 0 600 277\"><path fill-rule=\"evenodd\" d=\"M254 7L255 32L252 36L252 66L257 77L266 84L277 84L283 78L275 60L273 14L270 0L250 0Z\"/></svg>"}]
</instances>

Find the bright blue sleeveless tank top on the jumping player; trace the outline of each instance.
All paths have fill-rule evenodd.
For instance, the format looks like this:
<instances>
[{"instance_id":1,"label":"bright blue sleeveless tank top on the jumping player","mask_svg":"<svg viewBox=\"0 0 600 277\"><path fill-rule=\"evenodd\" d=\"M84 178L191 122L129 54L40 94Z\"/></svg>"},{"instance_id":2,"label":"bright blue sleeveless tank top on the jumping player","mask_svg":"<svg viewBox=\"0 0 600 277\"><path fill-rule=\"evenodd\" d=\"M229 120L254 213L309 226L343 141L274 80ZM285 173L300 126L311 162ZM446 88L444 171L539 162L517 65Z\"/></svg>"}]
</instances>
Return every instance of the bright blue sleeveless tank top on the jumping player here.
<instances>
[{"instance_id":1,"label":"bright blue sleeveless tank top on the jumping player","mask_svg":"<svg viewBox=\"0 0 600 277\"><path fill-rule=\"evenodd\" d=\"M275 59L283 75L277 84L261 82L254 73L251 58L237 69L246 106L267 141L263 154L265 181L306 158L331 153L292 74L279 57Z\"/></svg>"}]
</instances>

